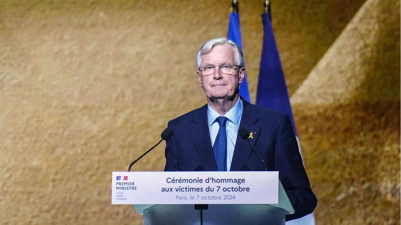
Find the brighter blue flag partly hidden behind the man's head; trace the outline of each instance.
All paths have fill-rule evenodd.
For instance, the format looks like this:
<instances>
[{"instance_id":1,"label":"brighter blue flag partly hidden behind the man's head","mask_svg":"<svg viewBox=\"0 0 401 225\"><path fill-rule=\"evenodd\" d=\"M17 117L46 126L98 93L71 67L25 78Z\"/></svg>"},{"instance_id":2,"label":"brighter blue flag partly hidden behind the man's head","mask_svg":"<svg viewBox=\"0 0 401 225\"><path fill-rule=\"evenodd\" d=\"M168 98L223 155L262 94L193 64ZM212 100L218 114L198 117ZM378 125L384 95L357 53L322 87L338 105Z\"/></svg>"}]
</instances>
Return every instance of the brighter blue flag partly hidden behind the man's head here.
<instances>
[{"instance_id":1,"label":"brighter blue flag partly hidden behind the man's head","mask_svg":"<svg viewBox=\"0 0 401 225\"><path fill-rule=\"evenodd\" d=\"M242 48L242 41L241 41L241 30L239 29L239 14L238 12L231 12L230 18L228 22L228 32L227 32L227 39L233 40L238 46ZM249 89L248 89L248 82L247 82L247 74L245 72L244 80L242 84L239 86L239 95L241 95L244 100L251 102L249 98Z\"/></svg>"}]
</instances>

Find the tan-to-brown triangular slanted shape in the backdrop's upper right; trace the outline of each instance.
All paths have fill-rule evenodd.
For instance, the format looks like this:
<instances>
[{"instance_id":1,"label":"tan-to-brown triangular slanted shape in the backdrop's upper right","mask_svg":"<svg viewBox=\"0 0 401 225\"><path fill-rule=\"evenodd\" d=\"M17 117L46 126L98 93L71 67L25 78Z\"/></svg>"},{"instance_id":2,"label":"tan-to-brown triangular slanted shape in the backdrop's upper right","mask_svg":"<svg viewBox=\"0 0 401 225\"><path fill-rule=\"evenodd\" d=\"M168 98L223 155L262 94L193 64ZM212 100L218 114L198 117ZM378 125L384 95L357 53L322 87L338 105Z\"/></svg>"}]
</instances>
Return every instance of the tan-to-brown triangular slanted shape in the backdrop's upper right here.
<instances>
[{"instance_id":1,"label":"tan-to-brown triangular slanted shape in the backdrop's upper right","mask_svg":"<svg viewBox=\"0 0 401 225\"><path fill-rule=\"evenodd\" d=\"M401 2L368 0L296 90L292 103L401 99Z\"/></svg>"}]
</instances>

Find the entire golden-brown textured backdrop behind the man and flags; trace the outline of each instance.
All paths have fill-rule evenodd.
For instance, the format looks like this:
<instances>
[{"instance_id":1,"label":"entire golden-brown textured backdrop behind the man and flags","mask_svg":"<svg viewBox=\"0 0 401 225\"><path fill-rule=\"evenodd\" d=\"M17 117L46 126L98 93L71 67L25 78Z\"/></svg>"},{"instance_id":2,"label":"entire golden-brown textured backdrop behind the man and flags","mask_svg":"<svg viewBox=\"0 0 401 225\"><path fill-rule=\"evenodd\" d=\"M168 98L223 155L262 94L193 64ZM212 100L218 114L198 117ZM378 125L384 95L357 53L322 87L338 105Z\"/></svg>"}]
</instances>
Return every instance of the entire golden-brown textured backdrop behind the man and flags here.
<instances>
[{"instance_id":1,"label":"entire golden-brown textured backdrop behind the man and flags","mask_svg":"<svg viewBox=\"0 0 401 225\"><path fill-rule=\"evenodd\" d=\"M142 224L111 171L205 104L230 0L0 0L0 224ZM254 100L263 1L239 1ZM399 0L273 1L316 224L401 224ZM135 170L160 171L163 145Z\"/></svg>"}]
</instances>

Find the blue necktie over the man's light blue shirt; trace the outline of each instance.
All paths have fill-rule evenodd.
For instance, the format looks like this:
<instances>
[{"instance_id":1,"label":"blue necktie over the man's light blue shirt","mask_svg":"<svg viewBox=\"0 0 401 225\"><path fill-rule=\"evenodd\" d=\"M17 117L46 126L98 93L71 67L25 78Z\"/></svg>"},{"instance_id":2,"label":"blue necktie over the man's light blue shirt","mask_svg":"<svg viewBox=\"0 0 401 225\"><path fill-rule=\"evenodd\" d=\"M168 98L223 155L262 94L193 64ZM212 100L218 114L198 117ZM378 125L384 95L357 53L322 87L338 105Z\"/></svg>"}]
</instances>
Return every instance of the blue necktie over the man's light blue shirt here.
<instances>
[{"instance_id":1,"label":"blue necktie over the man's light blue shirt","mask_svg":"<svg viewBox=\"0 0 401 225\"><path fill-rule=\"evenodd\" d=\"M220 125L219 133L213 145L213 152L215 153L215 159L218 171L227 171L227 134L225 123L227 121L226 117L217 117L217 123Z\"/></svg>"}]
</instances>

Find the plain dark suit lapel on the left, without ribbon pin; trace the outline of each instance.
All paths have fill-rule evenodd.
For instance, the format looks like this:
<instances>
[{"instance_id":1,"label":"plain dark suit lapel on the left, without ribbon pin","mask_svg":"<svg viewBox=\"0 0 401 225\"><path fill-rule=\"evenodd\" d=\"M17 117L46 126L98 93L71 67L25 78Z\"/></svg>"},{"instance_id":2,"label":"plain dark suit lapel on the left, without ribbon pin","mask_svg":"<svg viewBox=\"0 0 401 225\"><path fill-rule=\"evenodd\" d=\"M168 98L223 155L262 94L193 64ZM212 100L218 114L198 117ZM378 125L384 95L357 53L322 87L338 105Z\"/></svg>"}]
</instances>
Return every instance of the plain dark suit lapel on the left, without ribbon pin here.
<instances>
[{"instance_id":1,"label":"plain dark suit lapel on the left, without ribbon pin","mask_svg":"<svg viewBox=\"0 0 401 225\"><path fill-rule=\"evenodd\" d=\"M209 125L207 122L207 104L199 108L192 122L193 125L190 127L190 133L195 143L196 151L198 151L199 158L201 159L203 167L205 167L205 171L217 171L215 154L213 153Z\"/></svg>"}]
</instances>

